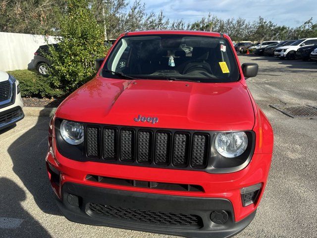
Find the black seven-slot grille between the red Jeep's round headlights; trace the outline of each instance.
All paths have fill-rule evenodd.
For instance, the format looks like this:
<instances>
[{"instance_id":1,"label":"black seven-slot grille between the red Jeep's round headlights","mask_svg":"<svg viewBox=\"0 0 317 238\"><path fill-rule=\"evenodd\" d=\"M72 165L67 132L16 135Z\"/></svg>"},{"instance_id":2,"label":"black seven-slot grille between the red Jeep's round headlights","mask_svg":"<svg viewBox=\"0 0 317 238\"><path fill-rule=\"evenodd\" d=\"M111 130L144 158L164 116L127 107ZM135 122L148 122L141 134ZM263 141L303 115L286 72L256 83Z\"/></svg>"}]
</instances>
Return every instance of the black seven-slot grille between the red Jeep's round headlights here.
<instances>
[{"instance_id":1,"label":"black seven-slot grille between the red Jeep's round headlights","mask_svg":"<svg viewBox=\"0 0 317 238\"><path fill-rule=\"evenodd\" d=\"M88 158L116 164L207 167L210 134L157 128L86 126Z\"/></svg>"}]
</instances>

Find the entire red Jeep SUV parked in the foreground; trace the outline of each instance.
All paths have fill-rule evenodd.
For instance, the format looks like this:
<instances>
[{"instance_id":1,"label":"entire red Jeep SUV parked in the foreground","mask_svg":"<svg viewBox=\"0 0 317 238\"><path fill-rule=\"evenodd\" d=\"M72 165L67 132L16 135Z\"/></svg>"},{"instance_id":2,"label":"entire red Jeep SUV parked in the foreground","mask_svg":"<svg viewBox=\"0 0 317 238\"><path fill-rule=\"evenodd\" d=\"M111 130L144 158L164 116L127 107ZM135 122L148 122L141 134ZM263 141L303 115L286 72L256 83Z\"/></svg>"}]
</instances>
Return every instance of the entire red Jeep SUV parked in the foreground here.
<instances>
[{"instance_id":1,"label":"entire red Jeep SUV parked in the foreground","mask_svg":"<svg viewBox=\"0 0 317 238\"><path fill-rule=\"evenodd\" d=\"M228 36L122 34L58 107L47 170L70 221L184 236L242 231L264 192L273 133Z\"/></svg>"}]
</instances>

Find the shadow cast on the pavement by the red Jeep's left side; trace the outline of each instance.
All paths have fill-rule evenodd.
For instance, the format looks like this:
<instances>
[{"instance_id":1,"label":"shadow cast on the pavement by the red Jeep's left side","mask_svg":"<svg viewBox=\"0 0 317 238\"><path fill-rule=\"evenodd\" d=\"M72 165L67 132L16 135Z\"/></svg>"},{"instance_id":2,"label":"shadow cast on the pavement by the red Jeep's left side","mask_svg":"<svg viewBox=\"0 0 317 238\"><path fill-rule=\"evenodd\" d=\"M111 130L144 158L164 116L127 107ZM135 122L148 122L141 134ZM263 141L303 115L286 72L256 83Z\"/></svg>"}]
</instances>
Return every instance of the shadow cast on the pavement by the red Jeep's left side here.
<instances>
[{"instance_id":1,"label":"shadow cast on the pavement by the red Jeep's left side","mask_svg":"<svg viewBox=\"0 0 317 238\"><path fill-rule=\"evenodd\" d=\"M13 163L13 172L33 195L38 207L45 213L61 215L55 204L45 165L49 121L48 117L39 117L35 126L8 147L8 154Z\"/></svg>"}]
</instances>

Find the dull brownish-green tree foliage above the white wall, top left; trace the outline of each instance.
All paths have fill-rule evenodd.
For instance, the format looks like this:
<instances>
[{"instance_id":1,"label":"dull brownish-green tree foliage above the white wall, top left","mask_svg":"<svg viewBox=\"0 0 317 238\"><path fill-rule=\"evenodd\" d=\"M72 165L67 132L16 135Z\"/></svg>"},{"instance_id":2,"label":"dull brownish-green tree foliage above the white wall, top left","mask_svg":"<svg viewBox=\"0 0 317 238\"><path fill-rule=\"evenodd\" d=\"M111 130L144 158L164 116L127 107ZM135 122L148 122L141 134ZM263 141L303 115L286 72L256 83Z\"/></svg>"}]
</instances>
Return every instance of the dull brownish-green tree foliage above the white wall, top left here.
<instances>
[{"instance_id":1,"label":"dull brownish-green tree foliage above the white wall, top left","mask_svg":"<svg viewBox=\"0 0 317 238\"><path fill-rule=\"evenodd\" d=\"M0 0L0 31L55 34L65 0Z\"/></svg>"}]
</instances>

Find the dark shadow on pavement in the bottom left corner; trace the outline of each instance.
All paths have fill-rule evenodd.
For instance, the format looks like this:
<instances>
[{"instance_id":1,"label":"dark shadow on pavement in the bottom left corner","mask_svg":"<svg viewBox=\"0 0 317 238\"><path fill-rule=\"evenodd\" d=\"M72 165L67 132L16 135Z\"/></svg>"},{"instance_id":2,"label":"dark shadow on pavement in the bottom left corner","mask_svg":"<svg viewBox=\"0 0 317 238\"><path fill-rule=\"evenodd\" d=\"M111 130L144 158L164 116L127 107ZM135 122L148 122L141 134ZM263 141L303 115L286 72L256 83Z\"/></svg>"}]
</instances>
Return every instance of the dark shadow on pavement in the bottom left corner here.
<instances>
[{"instance_id":1,"label":"dark shadow on pavement in the bottom left corner","mask_svg":"<svg viewBox=\"0 0 317 238\"><path fill-rule=\"evenodd\" d=\"M22 207L25 199L25 192L15 182L0 178L0 237L50 238L45 228Z\"/></svg>"}]
</instances>

